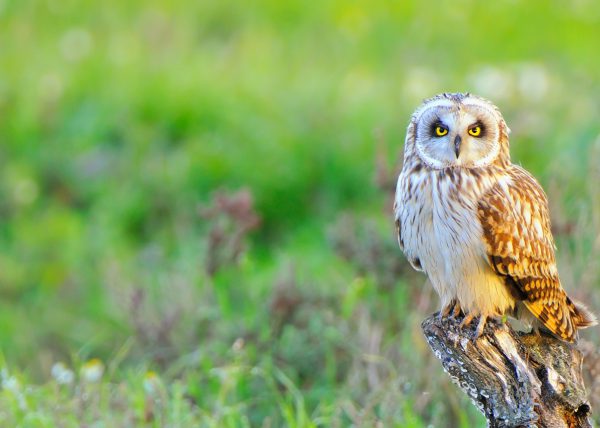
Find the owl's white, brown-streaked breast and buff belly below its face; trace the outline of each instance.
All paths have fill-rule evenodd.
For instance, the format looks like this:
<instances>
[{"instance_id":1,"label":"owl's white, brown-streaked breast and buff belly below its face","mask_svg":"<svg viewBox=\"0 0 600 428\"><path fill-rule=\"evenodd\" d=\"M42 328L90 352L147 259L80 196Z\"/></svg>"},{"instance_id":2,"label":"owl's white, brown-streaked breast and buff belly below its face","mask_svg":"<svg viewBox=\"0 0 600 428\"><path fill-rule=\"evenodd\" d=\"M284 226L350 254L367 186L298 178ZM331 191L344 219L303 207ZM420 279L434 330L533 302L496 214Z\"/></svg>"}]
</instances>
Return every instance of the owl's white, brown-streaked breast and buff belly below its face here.
<instances>
[{"instance_id":1,"label":"owl's white, brown-streaked breast and buff belly below its face","mask_svg":"<svg viewBox=\"0 0 600 428\"><path fill-rule=\"evenodd\" d=\"M442 306L458 299L465 309L499 312L498 301L510 297L487 262L477 216L477 202L491 183L456 174L429 171L399 180L396 215L404 252L413 265L419 261Z\"/></svg>"}]
</instances>

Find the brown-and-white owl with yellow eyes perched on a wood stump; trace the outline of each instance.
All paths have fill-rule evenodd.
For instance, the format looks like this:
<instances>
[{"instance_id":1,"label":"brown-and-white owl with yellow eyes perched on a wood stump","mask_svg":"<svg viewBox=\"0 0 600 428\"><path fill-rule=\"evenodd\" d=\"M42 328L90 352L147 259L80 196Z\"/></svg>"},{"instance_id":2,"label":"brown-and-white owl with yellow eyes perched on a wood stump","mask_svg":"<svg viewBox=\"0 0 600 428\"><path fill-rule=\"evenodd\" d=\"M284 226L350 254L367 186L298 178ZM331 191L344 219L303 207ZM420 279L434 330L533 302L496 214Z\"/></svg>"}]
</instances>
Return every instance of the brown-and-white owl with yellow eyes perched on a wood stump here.
<instances>
[{"instance_id":1,"label":"brown-and-white owl with yellow eyes perched on a wood stump","mask_svg":"<svg viewBox=\"0 0 600 428\"><path fill-rule=\"evenodd\" d=\"M508 134L491 102L462 93L426 100L412 115L394 212L400 248L441 299L440 316L512 316L574 342L595 316L558 276L548 201L510 161Z\"/></svg>"}]
</instances>

